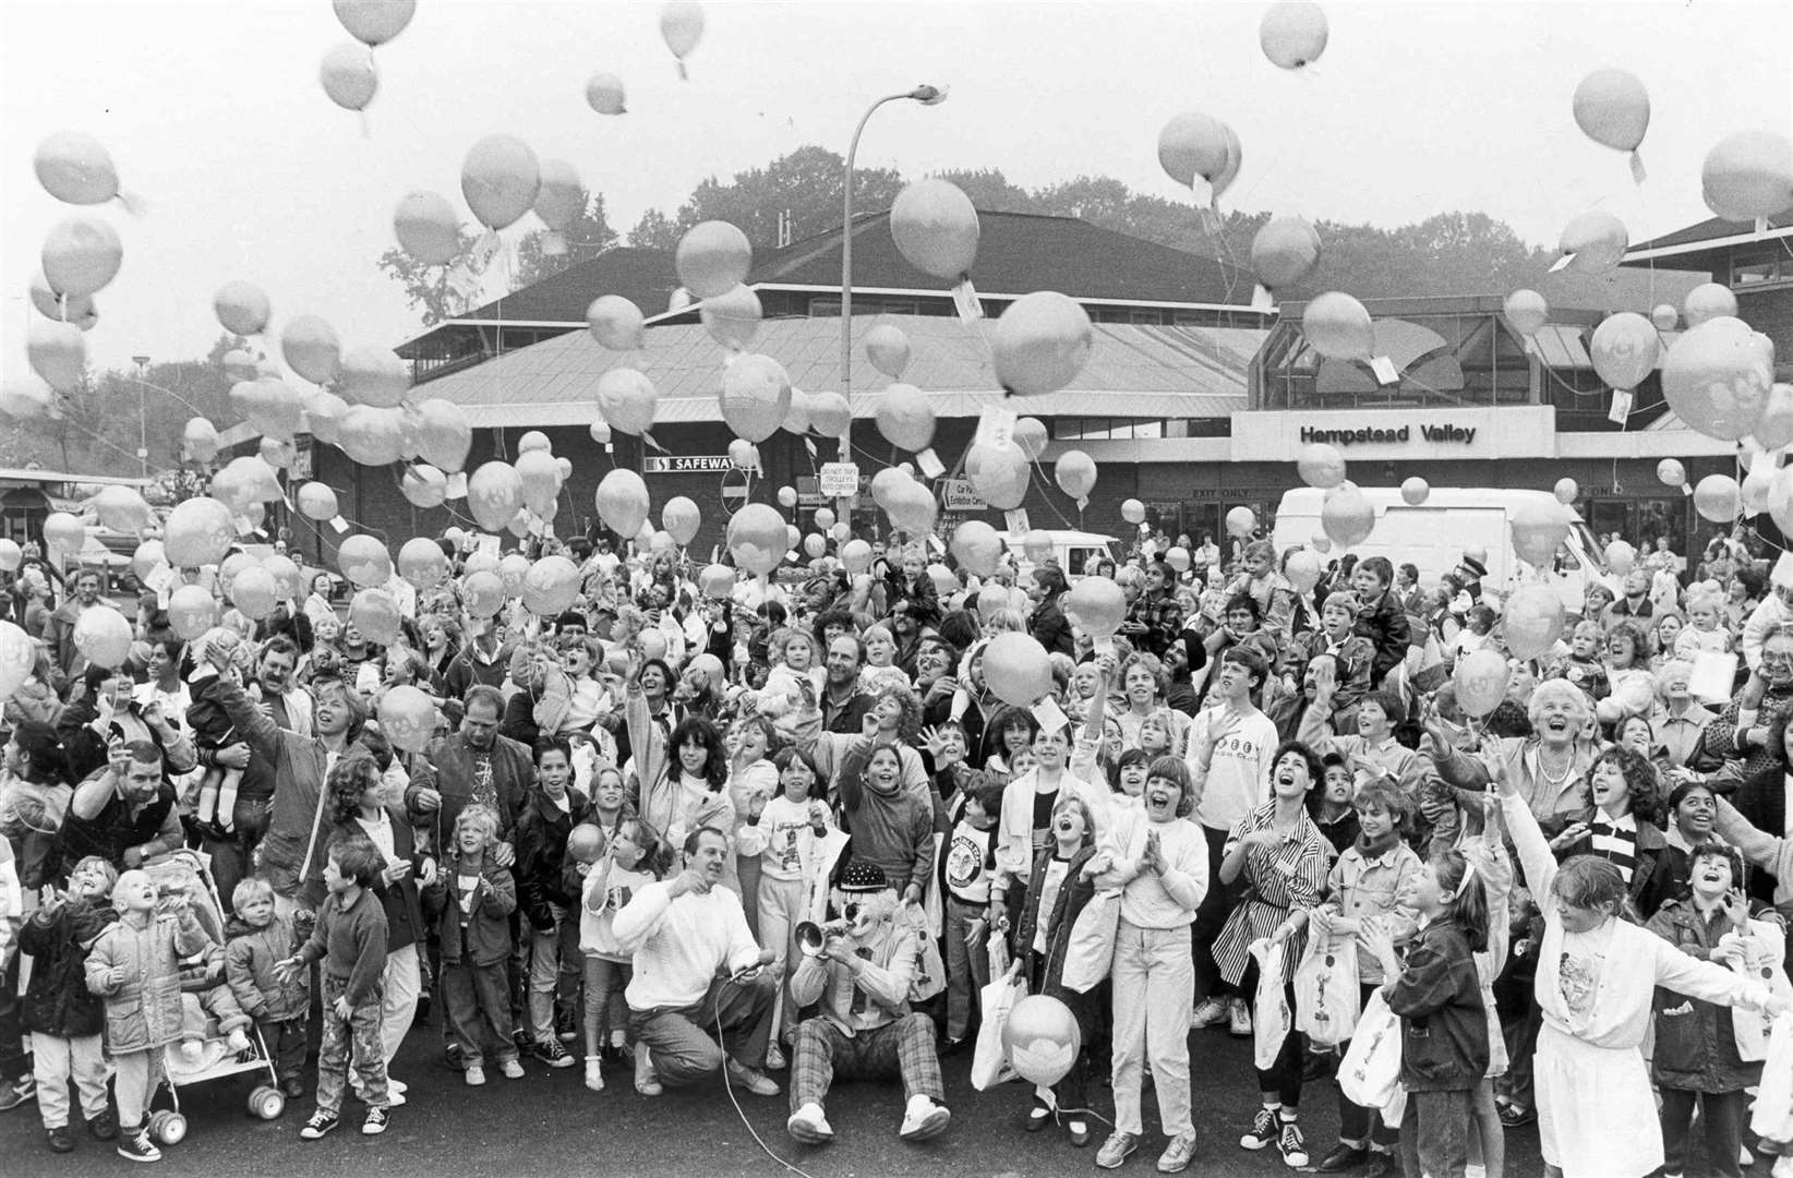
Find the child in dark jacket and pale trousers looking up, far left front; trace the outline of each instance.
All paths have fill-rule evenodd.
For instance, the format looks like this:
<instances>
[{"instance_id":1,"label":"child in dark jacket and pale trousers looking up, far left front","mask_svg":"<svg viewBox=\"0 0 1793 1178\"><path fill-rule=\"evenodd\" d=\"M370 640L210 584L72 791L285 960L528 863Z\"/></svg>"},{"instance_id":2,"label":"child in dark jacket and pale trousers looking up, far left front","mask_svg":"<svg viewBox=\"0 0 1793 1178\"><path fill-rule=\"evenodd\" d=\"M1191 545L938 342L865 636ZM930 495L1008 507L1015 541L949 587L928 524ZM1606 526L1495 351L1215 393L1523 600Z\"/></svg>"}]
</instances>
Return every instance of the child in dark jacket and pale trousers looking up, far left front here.
<instances>
[{"instance_id":1,"label":"child in dark jacket and pale trousers looking up, far left front","mask_svg":"<svg viewBox=\"0 0 1793 1178\"><path fill-rule=\"evenodd\" d=\"M54 896L18 934L22 954L34 957L25 988L22 1022L30 1033L38 1078L38 1115L50 1149L68 1153L75 1137L68 1126L68 1081L81 1092L81 1113L99 1140L118 1135L106 1094L106 1054L100 1031L104 1000L86 984L88 948L118 914L106 904L118 871L88 855L68 877L68 891Z\"/></svg>"}]
</instances>

